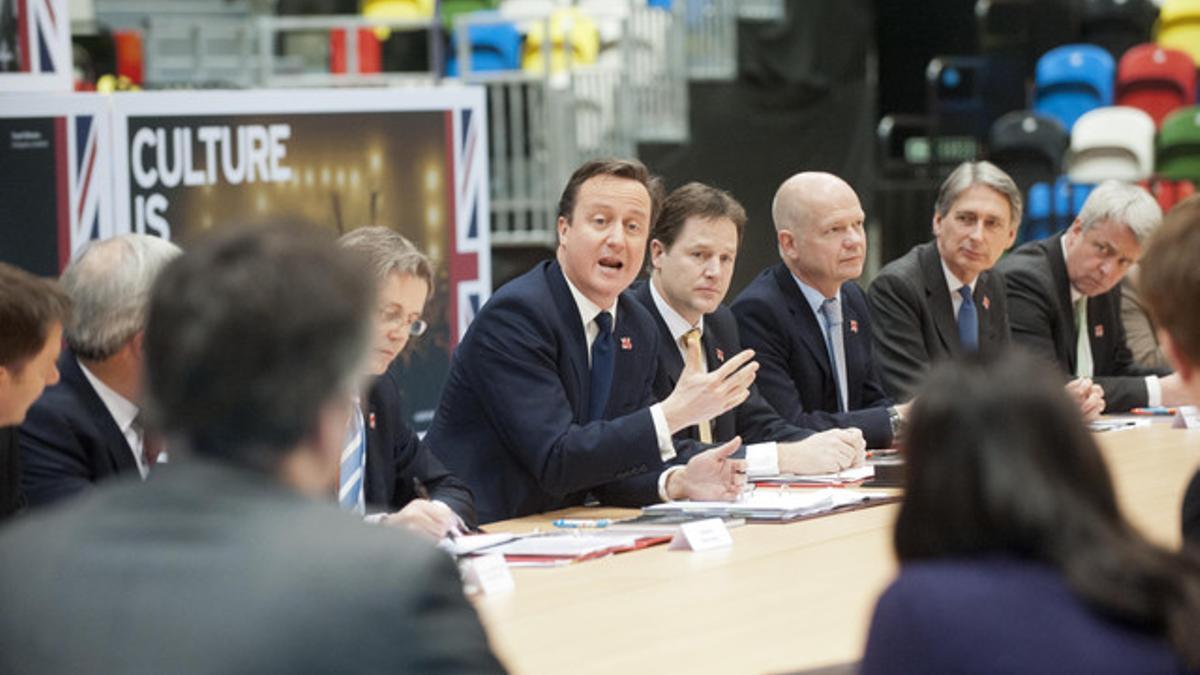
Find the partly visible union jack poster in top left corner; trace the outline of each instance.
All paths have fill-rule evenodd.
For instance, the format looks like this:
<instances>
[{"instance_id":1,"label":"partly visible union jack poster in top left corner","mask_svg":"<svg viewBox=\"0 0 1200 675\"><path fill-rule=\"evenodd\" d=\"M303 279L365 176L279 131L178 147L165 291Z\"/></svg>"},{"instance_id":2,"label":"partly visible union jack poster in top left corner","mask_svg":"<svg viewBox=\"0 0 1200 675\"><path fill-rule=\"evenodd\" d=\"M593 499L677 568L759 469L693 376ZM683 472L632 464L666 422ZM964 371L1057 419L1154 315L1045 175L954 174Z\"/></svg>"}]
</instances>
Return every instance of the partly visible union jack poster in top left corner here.
<instances>
[{"instance_id":1,"label":"partly visible union jack poster in top left corner","mask_svg":"<svg viewBox=\"0 0 1200 675\"><path fill-rule=\"evenodd\" d=\"M0 0L0 95L71 91L67 0Z\"/></svg>"}]
</instances>

